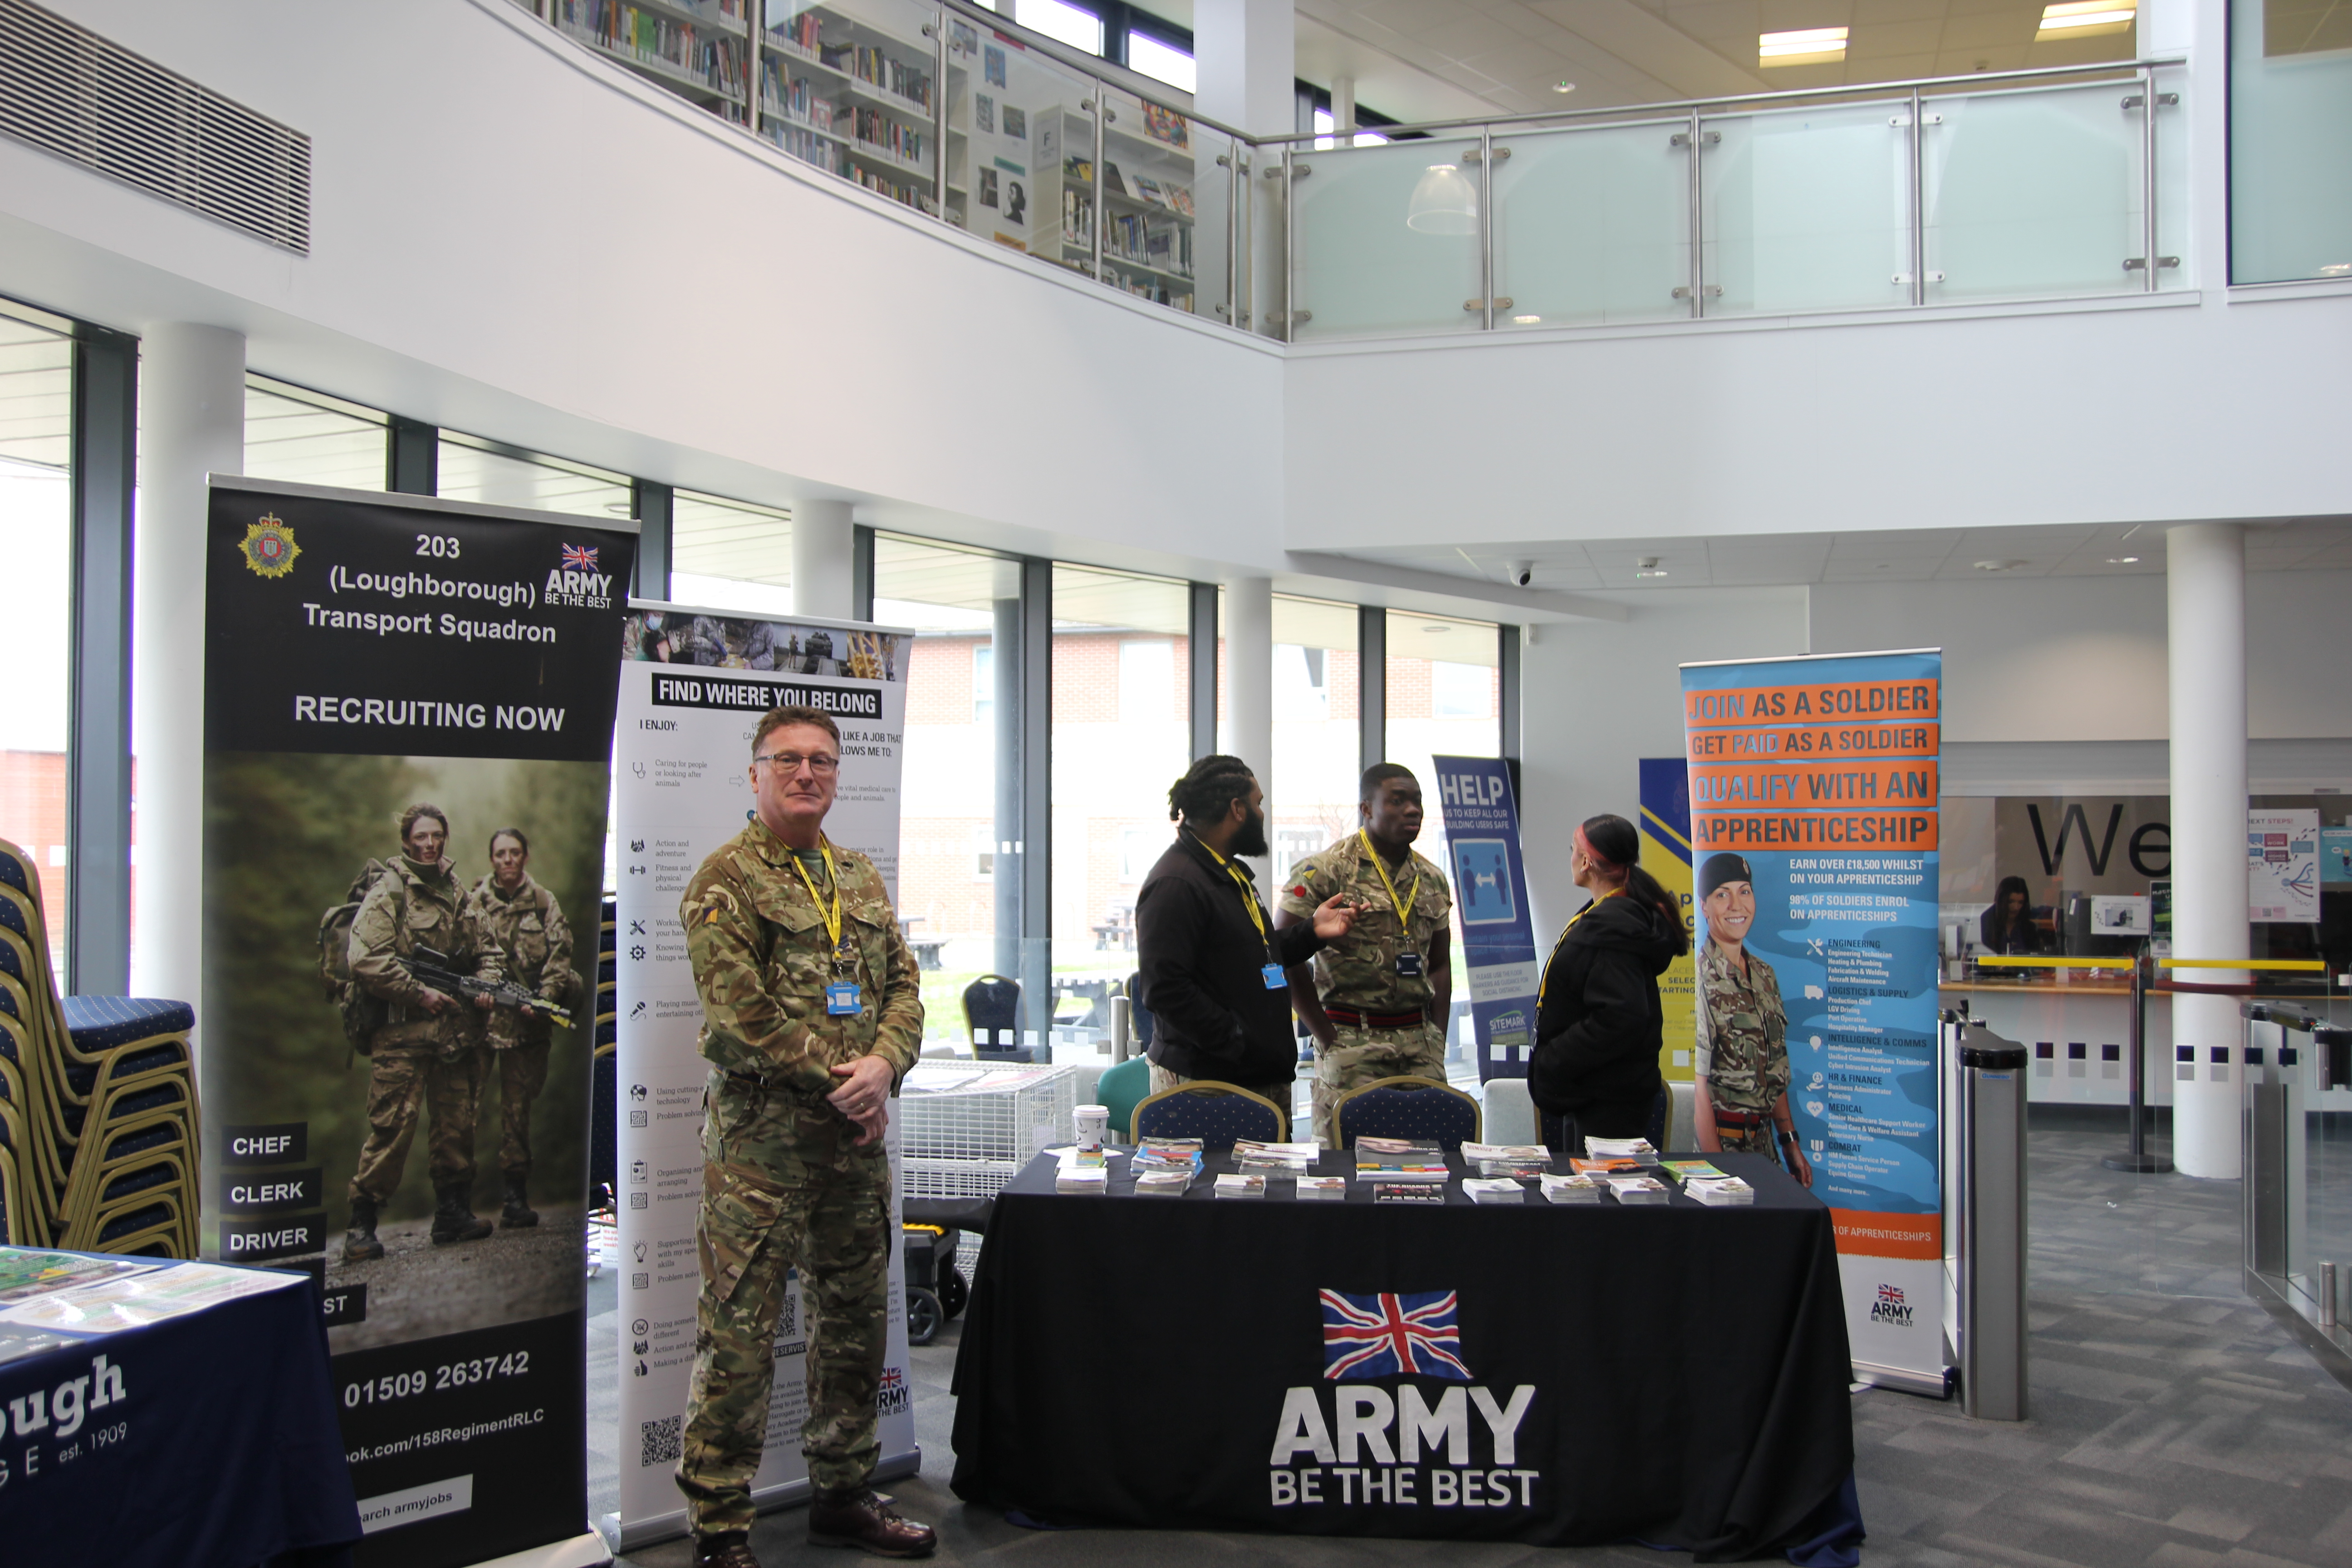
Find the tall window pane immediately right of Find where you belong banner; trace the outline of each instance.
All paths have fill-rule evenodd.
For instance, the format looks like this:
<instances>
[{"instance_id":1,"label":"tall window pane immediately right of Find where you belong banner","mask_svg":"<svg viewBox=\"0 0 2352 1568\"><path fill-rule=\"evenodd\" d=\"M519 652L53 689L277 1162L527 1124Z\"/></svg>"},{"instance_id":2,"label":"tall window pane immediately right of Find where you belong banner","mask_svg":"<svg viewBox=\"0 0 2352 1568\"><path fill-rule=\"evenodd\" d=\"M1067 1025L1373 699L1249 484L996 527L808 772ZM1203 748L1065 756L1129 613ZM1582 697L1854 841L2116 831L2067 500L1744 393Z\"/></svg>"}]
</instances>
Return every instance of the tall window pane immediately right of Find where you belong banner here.
<instances>
[{"instance_id":1,"label":"tall window pane immediately right of Find where you belong banner","mask_svg":"<svg viewBox=\"0 0 2352 1568\"><path fill-rule=\"evenodd\" d=\"M1021 564L891 534L875 536L875 621L915 630L906 675L906 783L898 809L898 919L922 971L924 1037L969 1051L964 987L1018 976L1021 811L1016 675ZM1007 644L997 644L997 635ZM1000 672L1004 684L1000 686ZM1011 689L1004 689L1011 686ZM1000 778L997 762L1011 773ZM1030 1030L1042 1023L1028 1018Z\"/></svg>"}]
</instances>

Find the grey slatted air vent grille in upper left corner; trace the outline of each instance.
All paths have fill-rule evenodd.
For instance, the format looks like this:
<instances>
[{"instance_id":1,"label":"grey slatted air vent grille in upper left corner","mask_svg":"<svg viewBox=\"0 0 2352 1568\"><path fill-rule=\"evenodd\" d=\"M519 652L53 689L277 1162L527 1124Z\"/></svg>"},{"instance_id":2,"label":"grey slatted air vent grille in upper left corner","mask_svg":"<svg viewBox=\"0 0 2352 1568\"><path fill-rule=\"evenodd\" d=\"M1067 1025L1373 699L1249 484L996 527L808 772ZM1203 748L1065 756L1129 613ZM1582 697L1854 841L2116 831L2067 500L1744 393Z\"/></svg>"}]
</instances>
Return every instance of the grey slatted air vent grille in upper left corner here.
<instances>
[{"instance_id":1,"label":"grey slatted air vent grille in upper left corner","mask_svg":"<svg viewBox=\"0 0 2352 1568\"><path fill-rule=\"evenodd\" d=\"M310 254L310 139L26 0L0 0L0 132Z\"/></svg>"}]
</instances>

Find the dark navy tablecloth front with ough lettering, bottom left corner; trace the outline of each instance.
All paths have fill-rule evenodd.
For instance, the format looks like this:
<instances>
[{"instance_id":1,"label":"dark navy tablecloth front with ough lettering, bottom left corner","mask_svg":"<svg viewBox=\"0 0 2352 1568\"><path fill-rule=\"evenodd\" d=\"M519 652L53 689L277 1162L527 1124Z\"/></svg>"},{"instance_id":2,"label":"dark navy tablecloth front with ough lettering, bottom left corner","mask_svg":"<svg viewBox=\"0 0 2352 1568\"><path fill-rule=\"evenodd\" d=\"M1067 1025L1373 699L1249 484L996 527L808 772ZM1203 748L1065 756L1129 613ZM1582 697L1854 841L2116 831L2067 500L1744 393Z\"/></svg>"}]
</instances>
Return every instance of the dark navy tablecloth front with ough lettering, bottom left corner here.
<instances>
[{"instance_id":1,"label":"dark navy tablecloth front with ough lettering, bottom left corner","mask_svg":"<svg viewBox=\"0 0 2352 1568\"><path fill-rule=\"evenodd\" d=\"M325 1568L360 1540L308 1279L0 1363L0 1415L5 1563Z\"/></svg>"}]
</instances>

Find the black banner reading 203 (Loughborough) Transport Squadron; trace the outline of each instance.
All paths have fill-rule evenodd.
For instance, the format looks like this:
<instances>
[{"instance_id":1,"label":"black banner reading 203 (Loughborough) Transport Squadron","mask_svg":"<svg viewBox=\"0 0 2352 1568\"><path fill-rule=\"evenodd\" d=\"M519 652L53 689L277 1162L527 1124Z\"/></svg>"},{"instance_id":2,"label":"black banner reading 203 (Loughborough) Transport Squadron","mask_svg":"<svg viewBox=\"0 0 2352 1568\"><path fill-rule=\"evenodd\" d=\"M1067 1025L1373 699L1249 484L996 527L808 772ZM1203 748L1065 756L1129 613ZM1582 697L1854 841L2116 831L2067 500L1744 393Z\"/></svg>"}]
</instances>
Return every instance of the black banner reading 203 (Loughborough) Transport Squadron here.
<instances>
[{"instance_id":1,"label":"black banner reading 203 (Loughborough) Transport Squadron","mask_svg":"<svg viewBox=\"0 0 2352 1568\"><path fill-rule=\"evenodd\" d=\"M600 1561L581 969L635 548L212 480L205 1237L320 1279L360 1563Z\"/></svg>"}]
</instances>

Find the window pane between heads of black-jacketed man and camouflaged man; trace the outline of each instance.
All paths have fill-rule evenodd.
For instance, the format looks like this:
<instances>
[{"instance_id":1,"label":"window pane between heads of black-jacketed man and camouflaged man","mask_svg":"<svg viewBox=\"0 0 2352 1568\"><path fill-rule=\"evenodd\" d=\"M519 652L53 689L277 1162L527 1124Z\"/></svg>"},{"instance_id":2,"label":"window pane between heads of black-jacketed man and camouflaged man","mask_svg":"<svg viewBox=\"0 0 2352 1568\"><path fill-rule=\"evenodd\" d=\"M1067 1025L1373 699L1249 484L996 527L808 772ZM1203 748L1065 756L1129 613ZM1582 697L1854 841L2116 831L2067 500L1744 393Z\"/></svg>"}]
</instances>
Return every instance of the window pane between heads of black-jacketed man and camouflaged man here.
<instances>
[{"instance_id":1,"label":"window pane between heads of black-jacketed man and camouflaged man","mask_svg":"<svg viewBox=\"0 0 2352 1568\"><path fill-rule=\"evenodd\" d=\"M1362 773L1357 609L1275 595L1275 879L1355 832Z\"/></svg>"}]
</instances>

